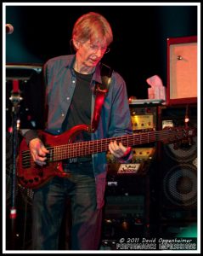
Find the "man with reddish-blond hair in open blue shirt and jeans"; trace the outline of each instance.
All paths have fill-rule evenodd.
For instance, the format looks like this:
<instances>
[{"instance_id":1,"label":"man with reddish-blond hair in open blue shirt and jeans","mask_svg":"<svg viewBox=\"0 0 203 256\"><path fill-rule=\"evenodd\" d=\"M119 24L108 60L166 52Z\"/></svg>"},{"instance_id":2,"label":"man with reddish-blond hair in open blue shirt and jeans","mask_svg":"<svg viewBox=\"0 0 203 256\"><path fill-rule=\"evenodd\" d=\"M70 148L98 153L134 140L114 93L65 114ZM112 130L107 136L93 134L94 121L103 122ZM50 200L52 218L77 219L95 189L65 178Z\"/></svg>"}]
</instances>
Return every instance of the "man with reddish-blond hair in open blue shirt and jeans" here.
<instances>
[{"instance_id":1,"label":"man with reddish-blond hair in open blue shirt and jeans","mask_svg":"<svg viewBox=\"0 0 203 256\"><path fill-rule=\"evenodd\" d=\"M45 63L46 132L57 140L70 131L60 142L64 140L64 144L70 145L75 140L80 142L79 148L70 148L73 153L88 141L112 138L107 149L118 161L128 162L132 158L131 148L121 142L116 143L116 137L133 133L127 88L119 73L112 72L96 131L88 130L97 107L94 107L95 86L102 84L100 61L109 51L112 40L110 24L102 15L93 12L82 15L76 20L71 38L76 54L55 57ZM24 137L32 160L48 172L45 166L48 166L48 160L54 158L52 148L49 148L52 145L46 145L34 130L26 131ZM88 143L84 145L88 147ZM66 155L66 151L67 148L63 154ZM70 154L67 159L63 156L58 167L63 169L61 172L65 173L65 177L56 175L33 189L32 249L59 249L59 230L68 199L71 207L70 249L99 249L107 164L106 153L102 150L97 152L92 154L87 150L87 155L85 151L83 156L72 154L71 157ZM37 181L37 178L33 180Z\"/></svg>"}]
</instances>

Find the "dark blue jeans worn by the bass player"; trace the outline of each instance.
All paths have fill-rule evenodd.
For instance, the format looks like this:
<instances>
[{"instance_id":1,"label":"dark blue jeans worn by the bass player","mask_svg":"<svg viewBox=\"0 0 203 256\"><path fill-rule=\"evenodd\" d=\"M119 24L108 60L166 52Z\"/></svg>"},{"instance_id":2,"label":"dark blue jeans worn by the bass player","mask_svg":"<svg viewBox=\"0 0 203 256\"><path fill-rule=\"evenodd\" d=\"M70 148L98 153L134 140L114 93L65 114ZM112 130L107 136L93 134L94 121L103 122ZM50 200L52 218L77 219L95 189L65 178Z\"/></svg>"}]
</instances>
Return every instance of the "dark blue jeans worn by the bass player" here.
<instances>
[{"instance_id":1,"label":"dark blue jeans worn by the bass player","mask_svg":"<svg viewBox=\"0 0 203 256\"><path fill-rule=\"evenodd\" d=\"M66 201L71 207L71 250L99 248L102 209L97 209L93 175L71 173L54 177L33 198L32 241L34 250L59 249L59 230Z\"/></svg>"}]
</instances>

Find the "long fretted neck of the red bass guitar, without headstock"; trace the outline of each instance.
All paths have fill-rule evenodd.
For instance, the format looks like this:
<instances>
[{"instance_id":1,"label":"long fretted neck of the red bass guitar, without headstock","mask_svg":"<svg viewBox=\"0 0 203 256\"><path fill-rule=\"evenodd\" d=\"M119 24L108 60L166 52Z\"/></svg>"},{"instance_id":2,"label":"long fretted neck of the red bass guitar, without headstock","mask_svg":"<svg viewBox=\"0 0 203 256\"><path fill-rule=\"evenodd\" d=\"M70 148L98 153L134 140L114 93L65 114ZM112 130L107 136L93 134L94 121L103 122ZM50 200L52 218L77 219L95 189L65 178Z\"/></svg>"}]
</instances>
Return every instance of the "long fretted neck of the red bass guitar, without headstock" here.
<instances>
[{"instance_id":1,"label":"long fretted neck of the red bass guitar, without headstock","mask_svg":"<svg viewBox=\"0 0 203 256\"><path fill-rule=\"evenodd\" d=\"M181 131L181 134L182 133L183 131ZM176 134L177 137L178 131L149 131L122 137L105 138L95 141L69 143L65 145L54 146L48 148L49 160L65 160L85 156L88 154L107 152L109 143L113 140L116 140L117 143L122 143L125 147L132 147L133 145L152 143L155 141L164 141L166 138L170 140L170 137L174 138L174 134Z\"/></svg>"}]
</instances>

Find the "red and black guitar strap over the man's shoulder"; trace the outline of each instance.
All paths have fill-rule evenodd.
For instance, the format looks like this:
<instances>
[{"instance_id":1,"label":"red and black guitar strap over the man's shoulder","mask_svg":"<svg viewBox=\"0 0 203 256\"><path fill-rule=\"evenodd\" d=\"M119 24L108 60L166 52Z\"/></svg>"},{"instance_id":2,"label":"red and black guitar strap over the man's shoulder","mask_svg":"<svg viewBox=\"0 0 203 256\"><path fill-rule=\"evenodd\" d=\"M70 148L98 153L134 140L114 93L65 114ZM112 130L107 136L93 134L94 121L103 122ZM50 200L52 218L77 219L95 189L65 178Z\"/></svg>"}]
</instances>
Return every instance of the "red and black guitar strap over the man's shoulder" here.
<instances>
[{"instance_id":1,"label":"red and black guitar strap over the man's shoulder","mask_svg":"<svg viewBox=\"0 0 203 256\"><path fill-rule=\"evenodd\" d=\"M93 110L93 119L91 123L91 131L94 132L98 128L99 118L101 113L101 108L104 103L104 98L107 95L110 89L110 82L111 82L111 75L112 75L112 68L101 64L101 80L102 84L96 83L95 84L95 103L94 103L94 110Z\"/></svg>"}]
</instances>

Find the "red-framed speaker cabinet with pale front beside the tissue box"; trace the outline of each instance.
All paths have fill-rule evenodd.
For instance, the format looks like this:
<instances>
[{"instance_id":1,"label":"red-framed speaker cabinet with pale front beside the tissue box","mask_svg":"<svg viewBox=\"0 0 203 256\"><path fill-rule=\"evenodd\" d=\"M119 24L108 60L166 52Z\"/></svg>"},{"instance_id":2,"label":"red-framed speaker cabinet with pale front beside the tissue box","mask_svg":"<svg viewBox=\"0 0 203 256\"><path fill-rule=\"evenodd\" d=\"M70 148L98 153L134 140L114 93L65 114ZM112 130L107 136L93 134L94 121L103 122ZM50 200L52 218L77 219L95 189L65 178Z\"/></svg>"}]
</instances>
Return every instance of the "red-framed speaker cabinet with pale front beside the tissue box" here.
<instances>
[{"instance_id":1,"label":"red-framed speaker cabinet with pale front beside the tissue box","mask_svg":"<svg viewBox=\"0 0 203 256\"><path fill-rule=\"evenodd\" d=\"M167 105L197 102L197 37L167 38Z\"/></svg>"}]
</instances>

